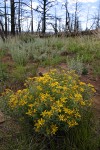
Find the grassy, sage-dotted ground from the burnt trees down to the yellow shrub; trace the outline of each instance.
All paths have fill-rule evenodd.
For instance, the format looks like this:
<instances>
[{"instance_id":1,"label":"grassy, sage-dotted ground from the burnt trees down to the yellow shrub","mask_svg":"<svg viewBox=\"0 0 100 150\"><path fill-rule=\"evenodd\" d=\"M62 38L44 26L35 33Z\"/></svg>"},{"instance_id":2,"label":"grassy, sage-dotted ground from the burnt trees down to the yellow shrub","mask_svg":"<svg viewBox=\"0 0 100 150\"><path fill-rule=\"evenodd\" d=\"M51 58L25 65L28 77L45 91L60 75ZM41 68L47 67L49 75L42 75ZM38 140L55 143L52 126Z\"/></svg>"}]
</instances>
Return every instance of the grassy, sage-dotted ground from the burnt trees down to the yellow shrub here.
<instances>
[{"instance_id":1,"label":"grassy, sage-dotted ground from the burnt trees down to the yellow shrub","mask_svg":"<svg viewBox=\"0 0 100 150\"><path fill-rule=\"evenodd\" d=\"M10 67L9 62L2 62L7 54L14 62ZM52 68L61 63L80 74L87 74L87 66L90 66L94 77L97 77L100 75L100 42L92 36L42 39L23 34L9 37L6 43L0 41L0 59L0 79L8 80L9 77L15 85L23 83L28 76L35 76L39 66Z\"/></svg>"}]
</instances>

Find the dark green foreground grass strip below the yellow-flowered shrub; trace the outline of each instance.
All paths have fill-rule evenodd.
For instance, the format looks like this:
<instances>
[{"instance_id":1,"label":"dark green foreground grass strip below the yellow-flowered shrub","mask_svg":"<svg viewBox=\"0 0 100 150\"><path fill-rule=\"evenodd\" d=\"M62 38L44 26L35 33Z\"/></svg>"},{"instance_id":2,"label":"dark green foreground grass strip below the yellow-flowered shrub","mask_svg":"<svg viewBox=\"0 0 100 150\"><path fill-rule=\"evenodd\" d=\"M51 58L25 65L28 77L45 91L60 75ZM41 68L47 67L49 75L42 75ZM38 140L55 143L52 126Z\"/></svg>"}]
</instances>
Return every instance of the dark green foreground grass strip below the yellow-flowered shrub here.
<instances>
[{"instance_id":1,"label":"dark green foreground grass strip below the yellow-flowered shrub","mask_svg":"<svg viewBox=\"0 0 100 150\"><path fill-rule=\"evenodd\" d=\"M26 123L20 128L20 132L14 124L9 125L6 128L10 132L12 128L13 132L8 136L2 134L3 141L0 141L0 148L2 148L0 150L99 150L100 137L97 135L91 110L85 111L79 126L52 137L44 137L32 130L29 131Z\"/></svg>"}]
</instances>

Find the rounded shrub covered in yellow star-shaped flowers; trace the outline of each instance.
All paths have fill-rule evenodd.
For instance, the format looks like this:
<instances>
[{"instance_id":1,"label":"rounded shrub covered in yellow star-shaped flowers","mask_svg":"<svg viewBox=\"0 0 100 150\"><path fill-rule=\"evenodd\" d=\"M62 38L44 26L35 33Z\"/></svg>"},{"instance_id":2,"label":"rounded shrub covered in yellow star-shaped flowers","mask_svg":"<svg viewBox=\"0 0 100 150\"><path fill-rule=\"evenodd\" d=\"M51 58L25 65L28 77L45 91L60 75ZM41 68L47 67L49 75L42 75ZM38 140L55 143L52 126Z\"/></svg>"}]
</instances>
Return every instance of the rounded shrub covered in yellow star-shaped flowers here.
<instances>
[{"instance_id":1,"label":"rounded shrub covered in yellow star-shaped flowers","mask_svg":"<svg viewBox=\"0 0 100 150\"><path fill-rule=\"evenodd\" d=\"M94 87L81 82L74 71L64 70L28 78L25 86L16 93L6 90L9 107L27 116L34 130L44 135L54 135L78 125L95 92Z\"/></svg>"}]
</instances>

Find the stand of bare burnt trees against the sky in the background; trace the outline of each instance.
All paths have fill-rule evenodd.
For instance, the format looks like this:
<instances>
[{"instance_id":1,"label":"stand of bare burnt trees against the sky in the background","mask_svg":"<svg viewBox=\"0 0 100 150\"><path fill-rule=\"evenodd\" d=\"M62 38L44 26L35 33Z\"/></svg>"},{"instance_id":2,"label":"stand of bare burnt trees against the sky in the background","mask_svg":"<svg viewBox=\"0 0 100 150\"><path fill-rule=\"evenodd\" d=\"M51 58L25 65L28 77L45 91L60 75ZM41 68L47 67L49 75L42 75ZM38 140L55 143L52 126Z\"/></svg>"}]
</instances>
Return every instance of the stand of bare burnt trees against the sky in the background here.
<instances>
[{"instance_id":1,"label":"stand of bare burnt trees against the sky in the background","mask_svg":"<svg viewBox=\"0 0 100 150\"><path fill-rule=\"evenodd\" d=\"M62 4L62 8L65 10L65 20L63 27L61 23L63 18L57 16L56 8L57 1L55 0L37 0L38 6L33 7L33 0L0 0L0 29L7 37L8 34L20 34L21 32L41 33L45 34L48 26L52 28L54 34L59 33L79 33L82 31L81 20L79 17L80 11L82 11L81 3L78 0L74 2L74 12L69 9L68 0ZM56 7L55 7L56 6ZM54 9L52 15L50 10ZM88 29L87 24L90 21L88 19L89 13L86 14L86 29L85 31L96 30L100 27L100 5L97 6L97 13L92 19L92 25ZM34 13L40 16L37 22L37 27L34 29ZM30 21L28 22L28 19ZM26 29L23 30L23 23L26 20ZM28 22L28 23L27 23ZM83 31L82 31L83 32Z\"/></svg>"}]
</instances>

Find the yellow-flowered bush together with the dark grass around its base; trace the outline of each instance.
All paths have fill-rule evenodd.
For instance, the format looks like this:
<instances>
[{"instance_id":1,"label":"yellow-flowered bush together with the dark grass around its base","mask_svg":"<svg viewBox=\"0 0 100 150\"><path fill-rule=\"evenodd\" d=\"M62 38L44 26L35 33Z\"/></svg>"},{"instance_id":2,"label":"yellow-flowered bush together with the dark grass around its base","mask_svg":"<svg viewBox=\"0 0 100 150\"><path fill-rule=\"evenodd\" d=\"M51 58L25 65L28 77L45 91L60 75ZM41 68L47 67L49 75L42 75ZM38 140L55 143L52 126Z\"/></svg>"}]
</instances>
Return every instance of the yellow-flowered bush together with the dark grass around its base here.
<instances>
[{"instance_id":1,"label":"yellow-flowered bush together with the dark grass around its base","mask_svg":"<svg viewBox=\"0 0 100 150\"><path fill-rule=\"evenodd\" d=\"M6 111L10 110L7 113L19 118L24 128L14 140L8 137L8 150L97 150L90 106L92 85L81 82L74 72L54 70L28 78L25 86L17 92L7 89L0 99L7 104Z\"/></svg>"}]
</instances>

